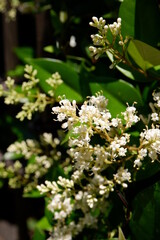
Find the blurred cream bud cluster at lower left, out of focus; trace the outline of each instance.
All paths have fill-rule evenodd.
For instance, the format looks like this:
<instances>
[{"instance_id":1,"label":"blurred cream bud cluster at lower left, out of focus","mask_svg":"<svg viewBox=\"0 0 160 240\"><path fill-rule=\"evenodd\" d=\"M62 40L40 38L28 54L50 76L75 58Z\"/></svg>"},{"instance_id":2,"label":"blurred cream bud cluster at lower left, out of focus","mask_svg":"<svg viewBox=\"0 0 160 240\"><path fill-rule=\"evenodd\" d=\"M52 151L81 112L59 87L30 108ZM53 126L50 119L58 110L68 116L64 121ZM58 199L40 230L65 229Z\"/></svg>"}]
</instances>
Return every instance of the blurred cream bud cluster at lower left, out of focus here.
<instances>
[{"instance_id":1,"label":"blurred cream bud cluster at lower left, out of focus","mask_svg":"<svg viewBox=\"0 0 160 240\"><path fill-rule=\"evenodd\" d=\"M39 179L61 158L57 150L59 140L51 133L40 136L40 142L27 139L11 144L0 163L0 177L9 179L12 188L35 189Z\"/></svg>"}]
</instances>

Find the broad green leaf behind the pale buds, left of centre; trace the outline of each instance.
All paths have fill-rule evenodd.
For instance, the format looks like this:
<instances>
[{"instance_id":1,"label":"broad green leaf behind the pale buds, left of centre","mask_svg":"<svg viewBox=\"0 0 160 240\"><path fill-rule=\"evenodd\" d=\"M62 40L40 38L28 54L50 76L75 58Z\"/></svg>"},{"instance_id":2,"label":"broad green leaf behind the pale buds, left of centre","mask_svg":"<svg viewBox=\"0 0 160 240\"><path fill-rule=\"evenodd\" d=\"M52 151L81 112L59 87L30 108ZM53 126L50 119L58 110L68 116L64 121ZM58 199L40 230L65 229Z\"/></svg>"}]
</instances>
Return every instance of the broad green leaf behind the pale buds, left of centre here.
<instances>
[{"instance_id":1,"label":"broad green leaf behind the pale buds, left of centre","mask_svg":"<svg viewBox=\"0 0 160 240\"><path fill-rule=\"evenodd\" d=\"M51 90L51 87L46 83L46 79L51 77L55 72L59 72L64 83L62 83L56 90L56 97L65 95L68 99L75 99L77 102L82 102L79 76L75 69L67 63L56 59L31 59L28 62L37 69L37 77L40 79L40 86L44 92Z\"/></svg>"}]
</instances>

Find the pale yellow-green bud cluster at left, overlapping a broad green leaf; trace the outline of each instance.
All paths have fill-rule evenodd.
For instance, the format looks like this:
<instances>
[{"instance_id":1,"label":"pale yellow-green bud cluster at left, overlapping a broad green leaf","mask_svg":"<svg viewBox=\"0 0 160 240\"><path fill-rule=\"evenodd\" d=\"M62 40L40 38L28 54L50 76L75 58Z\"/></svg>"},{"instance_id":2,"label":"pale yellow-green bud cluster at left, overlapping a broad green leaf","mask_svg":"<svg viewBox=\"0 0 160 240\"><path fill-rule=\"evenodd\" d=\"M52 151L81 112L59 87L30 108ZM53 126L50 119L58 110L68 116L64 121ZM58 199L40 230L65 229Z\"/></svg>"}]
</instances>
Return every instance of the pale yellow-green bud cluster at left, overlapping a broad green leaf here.
<instances>
[{"instance_id":1,"label":"pale yellow-green bud cluster at left, overlapping a broad green leaf","mask_svg":"<svg viewBox=\"0 0 160 240\"><path fill-rule=\"evenodd\" d=\"M40 92L38 86L39 79L36 77L37 70L32 66L26 65L24 68L24 81L20 88L15 85L14 79L8 77L5 86L0 85L0 96L4 96L6 104L22 104L22 110L17 114L17 118L23 121L25 118L32 119L33 113L43 112L48 104L54 104L54 93L56 88L62 83L61 76L58 73L52 75L46 80L50 87L48 95Z\"/></svg>"}]
</instances>

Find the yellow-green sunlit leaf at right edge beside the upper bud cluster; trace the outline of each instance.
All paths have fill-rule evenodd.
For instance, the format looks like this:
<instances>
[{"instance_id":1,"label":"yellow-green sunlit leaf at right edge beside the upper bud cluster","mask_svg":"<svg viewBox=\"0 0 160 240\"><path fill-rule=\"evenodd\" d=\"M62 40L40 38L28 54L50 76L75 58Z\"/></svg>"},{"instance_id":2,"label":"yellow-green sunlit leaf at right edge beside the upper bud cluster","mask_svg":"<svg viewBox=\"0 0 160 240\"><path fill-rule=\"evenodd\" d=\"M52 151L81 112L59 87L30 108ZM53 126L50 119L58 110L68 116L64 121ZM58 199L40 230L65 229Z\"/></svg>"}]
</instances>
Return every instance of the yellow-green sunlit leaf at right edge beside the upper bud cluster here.
<instances>
[{"instance_id":1,"label":"yellow-green sunlit leaf at right edge beside the upper bud cluster","mask_svg":"<svg viewBox=\"0 0 160 240\"><path fill-rule=\"evenodd\" d=\"M160 65L160 51L139 40L130 41L127 53L144 71Z\"/></svg>"}]
</instances>

